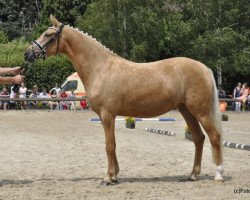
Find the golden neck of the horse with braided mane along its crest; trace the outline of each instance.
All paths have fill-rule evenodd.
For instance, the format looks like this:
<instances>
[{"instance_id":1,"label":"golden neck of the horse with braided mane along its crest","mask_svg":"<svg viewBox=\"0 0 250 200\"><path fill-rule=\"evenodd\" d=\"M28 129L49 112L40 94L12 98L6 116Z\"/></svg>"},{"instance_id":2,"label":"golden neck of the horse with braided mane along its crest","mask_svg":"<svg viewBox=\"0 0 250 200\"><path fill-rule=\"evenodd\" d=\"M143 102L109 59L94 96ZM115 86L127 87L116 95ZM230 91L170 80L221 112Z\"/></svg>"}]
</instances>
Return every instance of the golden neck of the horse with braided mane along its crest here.
<instances>
[{"instance_id":1,"label":"golden neck of the horse with braided mane along its crest","mask_svg":"<svg viewBox=\"0 0 250 200\"><path fill-rule=\"evenodd\" d=\"M106 67L108 58L114 55L95 39L70 27L65 28L62 42L61 51L70 58L85 88L91 85Z\"/></svg>"}]
</instances>

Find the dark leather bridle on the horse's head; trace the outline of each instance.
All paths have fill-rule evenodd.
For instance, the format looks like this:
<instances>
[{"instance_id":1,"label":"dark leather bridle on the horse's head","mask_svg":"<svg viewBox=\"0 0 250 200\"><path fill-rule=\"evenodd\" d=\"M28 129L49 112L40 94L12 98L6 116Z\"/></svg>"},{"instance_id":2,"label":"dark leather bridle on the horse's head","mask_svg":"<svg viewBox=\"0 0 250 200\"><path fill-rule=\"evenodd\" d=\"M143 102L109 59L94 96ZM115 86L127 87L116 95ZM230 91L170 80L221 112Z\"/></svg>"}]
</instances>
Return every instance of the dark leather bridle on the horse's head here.
<instances>
[{"instance_id":1,"label":"dark leather bridle on the horse's head","mask_svg":"<svg viewBox=\"0 0 250 200\"><path fill-rule=\"evenodd\" d=\"M60 33L62 32L64 27L64 24L62 24L59 29L56 29L54 27L49 27L48 29L53 29L56 31L56 34L51 37L44 45L40 45L39 42L36 40L32 42L32 52L35 58L38 58L40 55L42 56L43 59L47 57L46 55L46 49L51 45L52 42L54 42L57 39L57 48L56 48L56 54L58 54L58 49L59 49L59 44L60 44ZM40 50L40 51L35 51L34 45Z\"/></svg>"}]
</instances>

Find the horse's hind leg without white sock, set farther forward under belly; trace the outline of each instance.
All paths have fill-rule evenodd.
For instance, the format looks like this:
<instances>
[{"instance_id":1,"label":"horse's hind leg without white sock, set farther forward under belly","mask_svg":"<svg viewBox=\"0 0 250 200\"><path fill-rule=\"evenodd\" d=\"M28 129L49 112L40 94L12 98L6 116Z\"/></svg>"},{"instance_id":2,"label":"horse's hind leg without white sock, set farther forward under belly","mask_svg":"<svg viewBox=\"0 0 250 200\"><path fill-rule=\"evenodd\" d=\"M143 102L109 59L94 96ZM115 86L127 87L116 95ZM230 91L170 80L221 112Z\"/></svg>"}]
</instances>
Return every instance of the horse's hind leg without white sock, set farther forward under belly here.
<instances>
[{"instance_id":1,"label":"horse's hind leg without white sock, set farther forward under belly","mask_svg":"<svg viewBox=\"0 0 250 200\"><path fill-rule=\"evenodd\" d=\"M190 179L197 180L196 176L201 172L201 158L202 158L202 150L203 150L203 143L205 140L205 136L202 133L200 124L198 123L197 119L189 112L189 110L184 104L179 105L178 110L184 117L192 133L192 138L195 144L194 166Z\"/></svg>"}]
</instances>

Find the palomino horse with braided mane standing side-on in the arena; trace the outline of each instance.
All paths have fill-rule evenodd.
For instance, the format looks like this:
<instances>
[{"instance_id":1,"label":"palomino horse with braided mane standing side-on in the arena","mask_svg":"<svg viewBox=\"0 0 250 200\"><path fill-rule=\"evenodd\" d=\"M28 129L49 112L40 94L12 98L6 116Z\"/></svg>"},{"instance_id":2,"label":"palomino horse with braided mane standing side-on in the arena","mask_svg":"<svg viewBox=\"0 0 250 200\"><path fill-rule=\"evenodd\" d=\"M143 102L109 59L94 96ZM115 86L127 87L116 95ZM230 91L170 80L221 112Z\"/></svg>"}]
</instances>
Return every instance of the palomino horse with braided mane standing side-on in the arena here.
<instances>
[{"instance_id":1,"label":"palomino horse with braided mane standing side-on in the arena","mask_svg":"<svg viewBox=\"0 0 250 200\"><path fill-rule=\"evenodd\" d=\"M29 62L57 53L66 54L79 74L91 108L103 124L108 172L102 185L117 182L115 118L154 117L177 107L190 128L195 144L191 180L201 171L207 132L217 165L215 180L222 178L222 131L213 74L204 64L184 57L152 63L134 63L112 53L92 37L64 26L52 15L49 27L25 53ZM200 124L199 124L200 123Z\"/></svg>"}]
</instances>

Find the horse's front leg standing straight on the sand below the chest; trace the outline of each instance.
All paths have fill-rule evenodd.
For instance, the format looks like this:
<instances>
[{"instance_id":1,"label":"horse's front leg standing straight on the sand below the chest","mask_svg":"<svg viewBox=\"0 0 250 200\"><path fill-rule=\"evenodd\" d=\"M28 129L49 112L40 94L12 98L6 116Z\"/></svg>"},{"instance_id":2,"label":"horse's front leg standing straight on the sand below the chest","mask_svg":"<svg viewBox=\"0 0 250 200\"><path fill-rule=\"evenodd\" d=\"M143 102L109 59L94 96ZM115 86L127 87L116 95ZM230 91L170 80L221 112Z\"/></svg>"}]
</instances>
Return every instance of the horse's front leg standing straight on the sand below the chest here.
<instances>
[{"instance_id":1,"label":"horse's front leg standing straight on the sand below the chest","mask_svg":"<svg viewBox=\"0 0 250 200\"><path fill-rule=\"evenodd\" d=\"M117 174L119 173L119 165L115 153L115 116L104 112L100 115L100 118L105 131L106 153L108 156L108 173L101 185L107 186L117 183Z\"/></svg>"}]
</instances>

